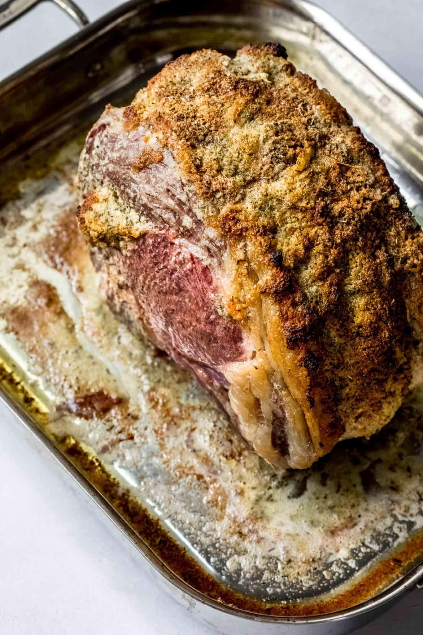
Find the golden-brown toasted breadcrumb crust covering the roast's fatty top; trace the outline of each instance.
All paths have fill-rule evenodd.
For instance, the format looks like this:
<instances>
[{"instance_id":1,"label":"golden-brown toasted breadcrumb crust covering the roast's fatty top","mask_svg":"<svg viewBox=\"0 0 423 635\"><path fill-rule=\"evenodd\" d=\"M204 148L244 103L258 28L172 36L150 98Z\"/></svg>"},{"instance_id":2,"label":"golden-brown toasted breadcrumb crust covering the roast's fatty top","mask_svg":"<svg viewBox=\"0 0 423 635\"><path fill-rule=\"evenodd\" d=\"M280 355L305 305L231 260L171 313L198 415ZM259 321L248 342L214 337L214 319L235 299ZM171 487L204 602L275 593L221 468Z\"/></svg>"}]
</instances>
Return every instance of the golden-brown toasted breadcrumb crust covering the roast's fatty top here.
<instances>
[{"instance_id":1,"label":"golden-brown toasted breadcrumb crust covering the roast's fatty top","mask_svg":"<svg viewBox=\"0 0 423 635\"><path fill-rule=\"evenodd\" d=\"M250 44L233 59L183 55L122 116L171 153L198 220L225 245L225 312L263 342L255 389L267 382L268 400L288 391L293 420L306 422L304 455L282 465L307 467L386 424L422 375L423 234L348 112L283 46ZM134 171L163 158L148 152ZM112 235L86 207L91 240ZM242 382L238 396L252 386L247 371ZM287 438L270 419L273 450L252 445L278 464Z\"/></svg>"}]
</instances>

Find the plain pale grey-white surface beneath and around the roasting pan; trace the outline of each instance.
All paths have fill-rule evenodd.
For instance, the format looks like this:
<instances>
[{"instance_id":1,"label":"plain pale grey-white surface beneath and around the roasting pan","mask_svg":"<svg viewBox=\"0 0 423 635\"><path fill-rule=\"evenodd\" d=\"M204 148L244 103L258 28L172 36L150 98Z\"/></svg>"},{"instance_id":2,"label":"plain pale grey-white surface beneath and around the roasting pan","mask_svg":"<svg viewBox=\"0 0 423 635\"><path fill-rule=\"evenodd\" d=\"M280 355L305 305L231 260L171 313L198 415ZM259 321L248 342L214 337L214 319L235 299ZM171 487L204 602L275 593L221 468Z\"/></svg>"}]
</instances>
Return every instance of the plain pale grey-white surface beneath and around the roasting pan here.
<instances>
[{"instance_id":1,"label":"plain pale grey-white surface beneath and around the roasting pan","mask_svg":"<svg viewBox=\"0 0 423 635\"><path fill-rule=\"evenodd\" d=\"M90 20L119 4L79 3ZM316 4L423 92L422 0ZM58 8L40 4L0 33L0 79L75 31ZM1 407L0 439L2 634L216 635L162 595L107 522L88 509L83 497L68 487L55 466L46 463ZM422 594L410 592L356 635L423 632Z\"/></svg>"}]
</instances>

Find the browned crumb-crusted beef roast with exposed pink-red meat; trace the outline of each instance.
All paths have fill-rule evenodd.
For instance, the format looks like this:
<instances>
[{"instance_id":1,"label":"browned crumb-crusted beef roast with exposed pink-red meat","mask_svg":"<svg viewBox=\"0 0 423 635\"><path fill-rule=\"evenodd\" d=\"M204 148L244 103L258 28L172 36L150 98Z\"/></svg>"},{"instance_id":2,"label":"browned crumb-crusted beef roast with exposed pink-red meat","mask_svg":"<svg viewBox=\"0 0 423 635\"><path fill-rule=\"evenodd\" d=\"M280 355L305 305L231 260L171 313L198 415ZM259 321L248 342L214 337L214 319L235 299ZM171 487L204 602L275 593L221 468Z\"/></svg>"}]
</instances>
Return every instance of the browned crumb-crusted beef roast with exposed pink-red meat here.
<instances>
[{"instance_id":1,"label":"browned crumb-crusted beef roast with exposed pink-red meat","mask_svg":"<svg viewBox=\"0 0 423 635\"><path fill-rule=\"evenodd\" d=\"M112 311L275 467L369 436L421 382L422 231L280 44L183 55L108 105L79 189Z\"/></svg>"}]
</instances>

